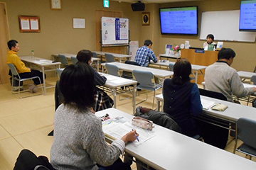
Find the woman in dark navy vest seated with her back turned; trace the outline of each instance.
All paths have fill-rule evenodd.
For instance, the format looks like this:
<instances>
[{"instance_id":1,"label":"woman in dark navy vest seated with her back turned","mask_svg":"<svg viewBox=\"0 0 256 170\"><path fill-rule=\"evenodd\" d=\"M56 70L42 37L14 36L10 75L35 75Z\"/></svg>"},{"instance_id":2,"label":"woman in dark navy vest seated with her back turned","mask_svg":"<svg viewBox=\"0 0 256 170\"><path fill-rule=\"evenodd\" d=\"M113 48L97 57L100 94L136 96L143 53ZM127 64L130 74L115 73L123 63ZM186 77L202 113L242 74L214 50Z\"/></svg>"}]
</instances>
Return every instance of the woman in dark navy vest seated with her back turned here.
<instances>
[{"instance_id":1,"label":"woman in dark navy vest seated with her back turned","mask_svg":"<svg viewBox=\"0 0 256 170\"><path fill-rule=\"evenodd\" d=\"M191 64L186 59L174 64L174 76L166 79L163 86L164 113L171 115L181 127L183 135L193 137L200 134L192 115L203 111L197 84L190 82Z\"/></svg>"}]
</instances>

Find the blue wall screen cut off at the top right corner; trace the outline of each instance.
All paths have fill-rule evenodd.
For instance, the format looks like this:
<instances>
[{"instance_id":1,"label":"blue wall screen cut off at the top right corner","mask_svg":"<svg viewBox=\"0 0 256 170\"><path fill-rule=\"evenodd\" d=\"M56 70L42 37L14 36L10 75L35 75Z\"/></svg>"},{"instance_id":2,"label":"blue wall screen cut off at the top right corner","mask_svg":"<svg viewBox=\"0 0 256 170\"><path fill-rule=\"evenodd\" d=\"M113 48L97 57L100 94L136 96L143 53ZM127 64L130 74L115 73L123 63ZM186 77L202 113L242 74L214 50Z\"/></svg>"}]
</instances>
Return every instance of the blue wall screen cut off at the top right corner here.
<instances>
[{"instance_id":1,"label":"blue wall screen cut off at the top right corner","mask_svg":"<svg viewBox=\"0 0 256 170\"><path fill-rule=\"evenodd\" d=\"M256 31L256 0L241 1L239 30Z\"/></svg>"}]
</instances>

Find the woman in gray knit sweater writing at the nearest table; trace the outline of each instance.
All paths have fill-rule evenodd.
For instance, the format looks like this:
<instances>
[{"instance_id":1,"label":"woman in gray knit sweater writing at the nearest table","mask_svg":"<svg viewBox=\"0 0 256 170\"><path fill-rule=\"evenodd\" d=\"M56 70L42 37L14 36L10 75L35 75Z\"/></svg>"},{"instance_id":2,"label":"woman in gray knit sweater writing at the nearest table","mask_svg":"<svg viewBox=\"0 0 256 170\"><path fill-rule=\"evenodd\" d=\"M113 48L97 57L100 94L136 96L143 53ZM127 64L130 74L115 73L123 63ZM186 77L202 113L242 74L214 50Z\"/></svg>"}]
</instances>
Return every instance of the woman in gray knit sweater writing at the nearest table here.
<instances>
[{"instance_id":1,"label":"woman in gray knit sweater writing at the nearest table","mask_svg":"<svg viewBox=\"0 0 256 170\"><path fill-rule=\"evenodd\" d=\"M120 159L136 130L111 145L105 142L102 121L92 111L95 72L85 63L71 64L60 76L64 102L55 111L50 163L55 169L130 169ZM101 169L101 168L100 168Z\"/></svg>"}]
</instances>

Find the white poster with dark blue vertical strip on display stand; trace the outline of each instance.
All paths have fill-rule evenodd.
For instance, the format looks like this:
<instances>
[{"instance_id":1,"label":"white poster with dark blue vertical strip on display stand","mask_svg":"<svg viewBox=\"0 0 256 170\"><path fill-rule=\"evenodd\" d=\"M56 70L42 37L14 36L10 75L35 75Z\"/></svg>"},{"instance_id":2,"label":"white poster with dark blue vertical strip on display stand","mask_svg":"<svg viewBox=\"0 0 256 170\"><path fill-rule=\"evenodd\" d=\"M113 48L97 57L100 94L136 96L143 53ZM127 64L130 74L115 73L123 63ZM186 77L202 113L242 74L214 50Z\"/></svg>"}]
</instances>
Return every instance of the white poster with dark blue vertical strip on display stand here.
<instances>
[{"instance_id":1,"label":"white poster with dark blue vertical strip on display stand","mask_svg":"<svg viewBox=\"0 0 256 170\"><path fill-rule=\"evenodd\" d=\"M128 44L129 19L102 16L102 45Z\"/></svg>"}]
</instances>

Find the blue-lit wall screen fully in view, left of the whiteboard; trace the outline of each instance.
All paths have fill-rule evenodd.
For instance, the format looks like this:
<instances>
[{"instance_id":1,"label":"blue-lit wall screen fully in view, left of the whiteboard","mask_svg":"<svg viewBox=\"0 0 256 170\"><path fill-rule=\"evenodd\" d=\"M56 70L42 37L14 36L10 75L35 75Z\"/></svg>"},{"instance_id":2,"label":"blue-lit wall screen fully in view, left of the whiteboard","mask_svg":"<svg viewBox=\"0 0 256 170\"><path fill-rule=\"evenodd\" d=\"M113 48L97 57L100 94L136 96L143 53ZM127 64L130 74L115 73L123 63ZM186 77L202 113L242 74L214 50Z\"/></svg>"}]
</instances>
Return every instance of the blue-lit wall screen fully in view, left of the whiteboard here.
<instances>
[{"instance_id":1,"label":"blue-lit wall screen fully in view, left of the whiteboard","mask_svg":"<svg viewBox=\"0 0 256 170\"><path fill-rule=\"evenodd\" d=\"M198 6L160 8L162 34L198 35Z\"/></svg>"}]
</instances>

